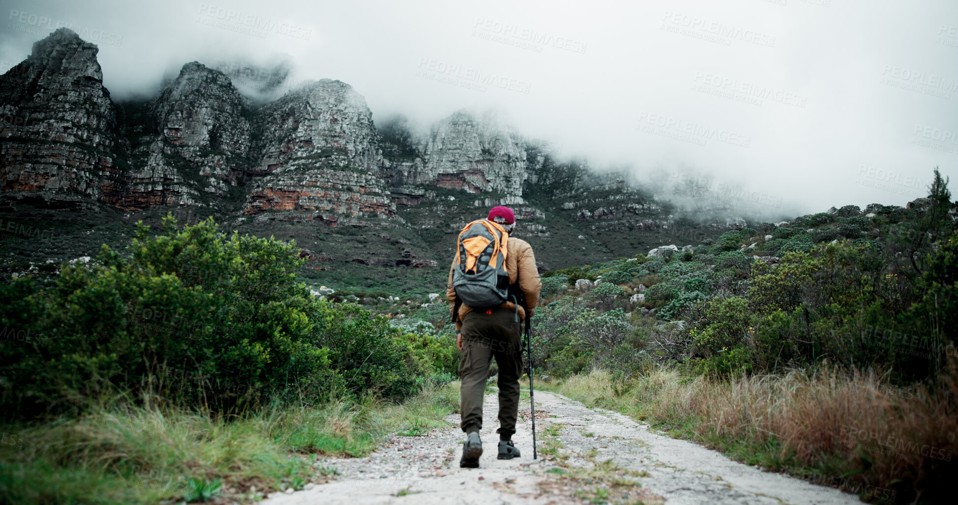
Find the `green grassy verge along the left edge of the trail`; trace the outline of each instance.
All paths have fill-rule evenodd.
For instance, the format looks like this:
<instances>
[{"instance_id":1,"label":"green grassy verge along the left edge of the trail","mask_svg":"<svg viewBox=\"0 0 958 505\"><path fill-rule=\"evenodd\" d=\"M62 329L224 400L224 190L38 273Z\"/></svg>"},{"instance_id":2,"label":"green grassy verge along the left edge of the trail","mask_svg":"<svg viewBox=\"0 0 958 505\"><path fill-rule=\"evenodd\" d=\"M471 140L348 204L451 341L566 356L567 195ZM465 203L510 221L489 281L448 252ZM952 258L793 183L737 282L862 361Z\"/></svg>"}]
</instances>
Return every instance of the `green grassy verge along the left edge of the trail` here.
<instances>
[{"instance_id":1,"label":"green grassy verge along the left edge of the trail","mask_svg":"<svg viewBox=\"0 0 958 505\"><path fill-rule=\"evenodd\" d=\"M230 419L126 406L0 426L0 503L257 500L331 478L317 455L364 455L392 431L414 435L445 425L458 406L453 383L399 405L367 399Z\"/></svg>"}]
</instances>

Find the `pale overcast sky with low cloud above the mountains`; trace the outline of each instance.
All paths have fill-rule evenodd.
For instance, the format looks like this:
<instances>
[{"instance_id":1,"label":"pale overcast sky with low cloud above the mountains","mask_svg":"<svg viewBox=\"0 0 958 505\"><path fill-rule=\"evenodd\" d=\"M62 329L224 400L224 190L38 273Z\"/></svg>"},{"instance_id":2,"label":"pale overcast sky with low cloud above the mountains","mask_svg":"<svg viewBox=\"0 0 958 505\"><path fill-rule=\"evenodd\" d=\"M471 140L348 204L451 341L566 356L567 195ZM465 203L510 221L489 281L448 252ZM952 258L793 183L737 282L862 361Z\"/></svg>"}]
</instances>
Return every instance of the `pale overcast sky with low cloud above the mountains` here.
<instances>
[{"instance_id":1,"label":"pale overcast sky with low cloud above the mountains","mask_svg":"<svg viewBox=\"0 0 958 505\"><path fill-rule=\"evenodd\" d=\"M783 211L904 205L935 166L958 194L955 0L3 5L0 70L71 25L115 99L192 60L288 59L290 81L348 82L376 121L494 109L561 156L737 184Z\"/></svg>"}]
</instances>

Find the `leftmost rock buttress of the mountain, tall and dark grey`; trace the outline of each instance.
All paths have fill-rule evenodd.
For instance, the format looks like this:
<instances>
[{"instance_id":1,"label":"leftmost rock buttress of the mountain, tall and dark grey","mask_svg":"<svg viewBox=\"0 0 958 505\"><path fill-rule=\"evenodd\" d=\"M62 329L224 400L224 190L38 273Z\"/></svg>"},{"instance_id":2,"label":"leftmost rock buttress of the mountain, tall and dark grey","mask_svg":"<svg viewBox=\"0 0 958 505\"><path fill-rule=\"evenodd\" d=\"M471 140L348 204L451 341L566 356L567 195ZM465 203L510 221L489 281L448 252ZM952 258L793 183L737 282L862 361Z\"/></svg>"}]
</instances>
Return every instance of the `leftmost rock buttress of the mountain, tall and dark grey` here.
<instances>
[{"instance_id":1,"label":"leftmost rock buttress of the mountain, tall and dark grey","mask_svg":"<svg viewBox=\"0 0 958 505\"><path fill-rule=\"evenodd\" d=\"M0 77L0 192L67 203L113 191L124 146L97 52L61 28Z\"/></svg>"}]
</instances>

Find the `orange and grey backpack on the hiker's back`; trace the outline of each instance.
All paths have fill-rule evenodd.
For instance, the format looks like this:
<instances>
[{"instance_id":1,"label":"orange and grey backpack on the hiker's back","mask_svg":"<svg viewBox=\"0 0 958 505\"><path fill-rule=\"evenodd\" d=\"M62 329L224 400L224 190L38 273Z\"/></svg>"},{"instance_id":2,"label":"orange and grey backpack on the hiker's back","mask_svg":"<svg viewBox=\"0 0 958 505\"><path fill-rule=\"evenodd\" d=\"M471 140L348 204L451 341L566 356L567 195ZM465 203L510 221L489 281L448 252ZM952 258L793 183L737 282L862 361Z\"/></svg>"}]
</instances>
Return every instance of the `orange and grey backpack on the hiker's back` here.
<instances>
[{"instance_id":1,"label":"orange and grey backpack on the hiker's back","mask_svg":"<svg viewBox=\"0 0 958 505\"><path fill-rule=\"evenodd\" d=\"M475 220L463 228L456 240L452 270L452 288L458 300L472 309L485 309L509 299L508 241L506 230L490 220Z\"/></svg>"}]
</instances>

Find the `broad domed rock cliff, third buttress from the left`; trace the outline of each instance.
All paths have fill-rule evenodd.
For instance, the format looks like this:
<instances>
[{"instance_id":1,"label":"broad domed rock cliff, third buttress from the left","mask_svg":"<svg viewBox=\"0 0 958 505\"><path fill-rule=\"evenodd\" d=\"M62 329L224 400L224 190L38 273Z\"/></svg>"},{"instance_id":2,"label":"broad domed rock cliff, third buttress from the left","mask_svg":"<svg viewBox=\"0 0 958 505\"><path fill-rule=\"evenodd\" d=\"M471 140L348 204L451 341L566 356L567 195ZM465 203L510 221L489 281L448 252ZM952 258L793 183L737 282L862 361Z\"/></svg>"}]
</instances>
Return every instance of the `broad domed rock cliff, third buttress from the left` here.
<instances>
[{"instance_id":1,"label":"broad domed rock cliff, third buttress from the left","mask_svg":"<svg viewBox=\"0 0 958 505\"><path fill-rule=\"evenodd\" d=\"M254 150L264 173L244 215L285 211L285 219L335 225L345 218L394 217L373 114L352 86L319 80L258 111ZM270 218L276 218L270 216Z\"/></svg>"}]
</instances>

